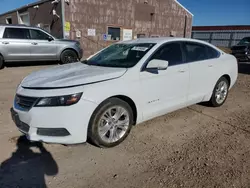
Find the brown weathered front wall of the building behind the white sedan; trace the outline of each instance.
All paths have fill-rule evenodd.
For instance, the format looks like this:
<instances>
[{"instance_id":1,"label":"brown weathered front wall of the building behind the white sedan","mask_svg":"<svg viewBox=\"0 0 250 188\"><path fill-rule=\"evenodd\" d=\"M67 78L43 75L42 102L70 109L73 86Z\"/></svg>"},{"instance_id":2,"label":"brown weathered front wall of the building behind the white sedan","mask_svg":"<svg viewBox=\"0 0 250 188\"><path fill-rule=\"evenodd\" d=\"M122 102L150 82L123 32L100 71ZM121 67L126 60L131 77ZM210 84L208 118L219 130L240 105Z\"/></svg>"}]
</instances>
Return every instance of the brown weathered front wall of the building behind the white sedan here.
<instances>
[{"instance_id":1,"label":"brown weathered front wall of the building behind the white sedan","mask_svg":"<svg viewBox=\"0 0 250 188\"><path fill-rule=\"evenodd\" d=\"M70 23L69 38L80 40L87 57L113 43L104 41L103 34L108 26L132 29L137 34L177 37L191 37L192 15L188 14L174 0L71 0L65 4L65 21ZM88 36L88 29L95 29L95 36ZM76 31L80 31L79 38Z\"/></svg>"}]
</instances>

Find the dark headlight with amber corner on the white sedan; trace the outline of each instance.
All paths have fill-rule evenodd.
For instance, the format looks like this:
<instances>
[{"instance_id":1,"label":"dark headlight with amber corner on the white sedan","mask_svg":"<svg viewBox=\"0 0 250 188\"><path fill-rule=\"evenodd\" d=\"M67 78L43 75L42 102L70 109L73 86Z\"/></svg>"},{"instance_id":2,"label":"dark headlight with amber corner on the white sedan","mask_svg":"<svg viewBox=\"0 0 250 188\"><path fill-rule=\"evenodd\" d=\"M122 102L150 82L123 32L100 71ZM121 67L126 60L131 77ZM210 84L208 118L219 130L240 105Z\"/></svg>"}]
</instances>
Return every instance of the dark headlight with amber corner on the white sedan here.
<instances>
[{"instance_id":1,"label":"dark headlight with amber corner on the white sedan","mask_svg":"<svg viewBox=\"0 0 250 188\"><path fill-rule=\"evenodd\" d=\"M64 95L57 97L40 98L36 103L36 107L51 107L51 106L70 106L76 104L81 99L82 93L72 95Z\"/></svg>"}]
</instances>

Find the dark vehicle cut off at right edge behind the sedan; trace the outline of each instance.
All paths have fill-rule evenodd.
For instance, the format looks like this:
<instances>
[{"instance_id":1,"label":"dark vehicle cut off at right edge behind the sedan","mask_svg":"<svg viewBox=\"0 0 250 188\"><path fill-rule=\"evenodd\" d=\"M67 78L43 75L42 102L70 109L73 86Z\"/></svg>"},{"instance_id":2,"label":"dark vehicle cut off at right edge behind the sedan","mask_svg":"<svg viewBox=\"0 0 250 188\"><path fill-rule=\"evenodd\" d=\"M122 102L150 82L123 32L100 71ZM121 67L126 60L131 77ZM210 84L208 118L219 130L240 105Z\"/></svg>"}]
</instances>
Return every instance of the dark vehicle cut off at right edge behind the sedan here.
<instances>
[{"instance_id":1,"label":"dark vehicle cut off at right edge behind the sedan","mask_svg":"<svg viewBox=\"0 0 250 188\"><path fill-rule=\"evenodd\" d=\"M243 38L236 46L233 46L231 50L238 61L250 61L250 37Z\"/></svg>"}]
</instances>

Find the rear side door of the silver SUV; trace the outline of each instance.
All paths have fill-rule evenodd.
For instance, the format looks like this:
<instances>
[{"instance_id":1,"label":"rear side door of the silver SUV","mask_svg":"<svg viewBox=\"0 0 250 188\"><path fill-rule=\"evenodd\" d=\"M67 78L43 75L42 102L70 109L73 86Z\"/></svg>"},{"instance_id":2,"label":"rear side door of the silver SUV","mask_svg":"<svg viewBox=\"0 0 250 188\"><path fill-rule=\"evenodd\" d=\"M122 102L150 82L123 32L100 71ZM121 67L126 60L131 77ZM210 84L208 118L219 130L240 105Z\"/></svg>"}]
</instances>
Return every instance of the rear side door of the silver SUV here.
<instances>
[{"instance_id":1,"label":"rear side door of the silver SUV","mask_svg":"<svg viewBox=\"0 0 250 188\"><path fill-rule=\"evenodd\" d=\"M6 27L0 44L5 61L28 61L31 49L29 38L28 29Z\"/></svg>"}]
</instances>

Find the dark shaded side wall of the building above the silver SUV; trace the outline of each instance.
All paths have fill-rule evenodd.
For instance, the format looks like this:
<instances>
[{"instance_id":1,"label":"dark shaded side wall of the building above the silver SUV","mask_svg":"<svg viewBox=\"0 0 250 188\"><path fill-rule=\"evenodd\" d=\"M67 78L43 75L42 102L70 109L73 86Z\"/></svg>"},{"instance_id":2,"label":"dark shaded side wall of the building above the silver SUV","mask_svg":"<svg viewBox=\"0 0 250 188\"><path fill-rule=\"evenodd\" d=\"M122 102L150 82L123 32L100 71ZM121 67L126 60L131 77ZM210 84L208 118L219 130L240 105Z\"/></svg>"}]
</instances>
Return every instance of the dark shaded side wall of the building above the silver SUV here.
<instances>
[{"instance_id":1,"label":"dark shaded side wall of the building above the silver SUV","mask_svg":"<svg viewBox=\"0 0 250 188\"><path fill-rule=\"evenodd\" d=\"M6 17L11 16L12 17L12 24L18 24L18 14L22 13L29 13L30 17L30 25L31 26L38 26L40 24L40 27L45 27L48 29L52 35L58 38L63 37L63 27L62 27L62 11L61 11L61 3L58 3L57 5L53 5L51 1L47 1L44 3L38 3L39 8L33 8L31 7L23 7L21 9L18 9L18 11L4 14L0 16L0 23L6 23ZM56 10L57 14L60 16L60 18L53 16L53 9ZM18 14L17 14L18 12Z\"/></svg>"}]
</instances>

